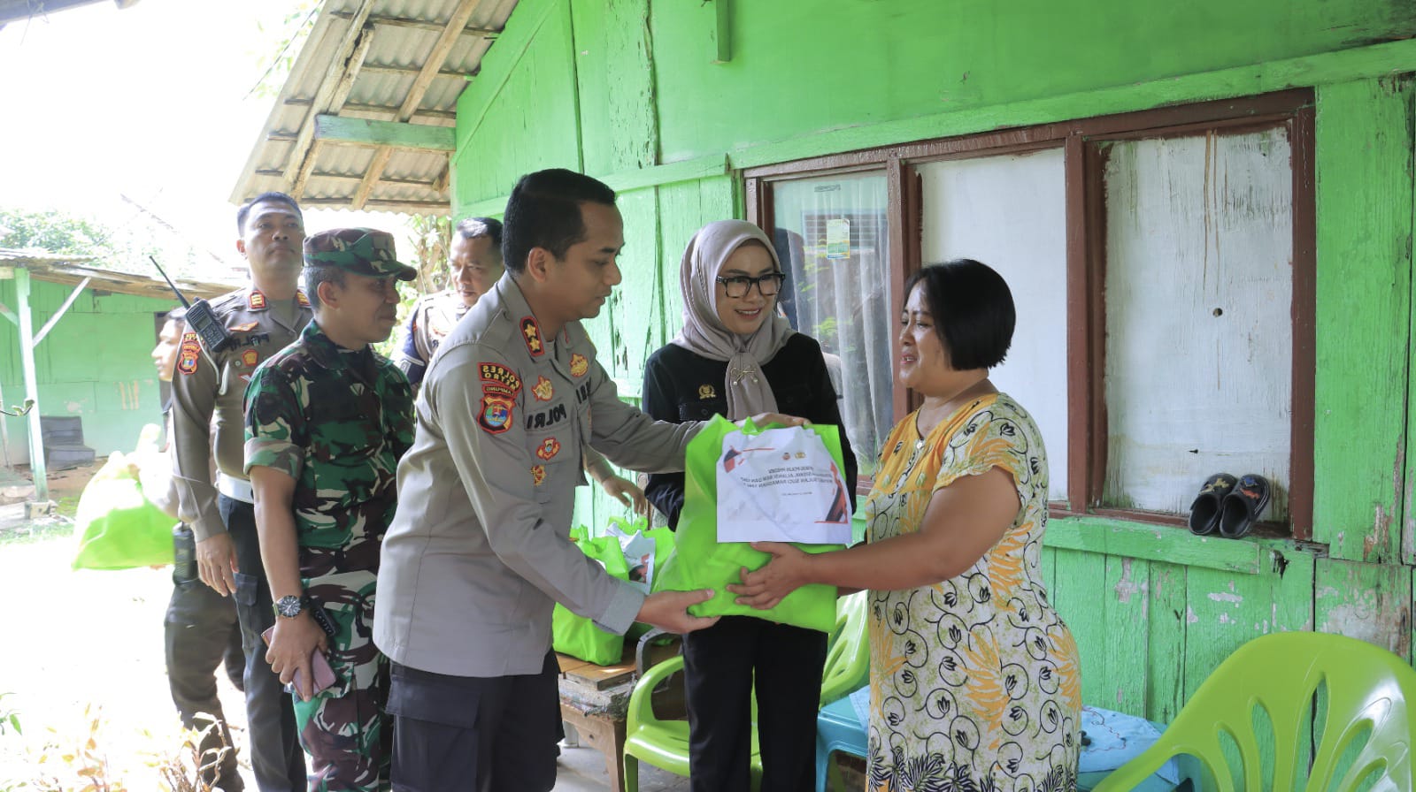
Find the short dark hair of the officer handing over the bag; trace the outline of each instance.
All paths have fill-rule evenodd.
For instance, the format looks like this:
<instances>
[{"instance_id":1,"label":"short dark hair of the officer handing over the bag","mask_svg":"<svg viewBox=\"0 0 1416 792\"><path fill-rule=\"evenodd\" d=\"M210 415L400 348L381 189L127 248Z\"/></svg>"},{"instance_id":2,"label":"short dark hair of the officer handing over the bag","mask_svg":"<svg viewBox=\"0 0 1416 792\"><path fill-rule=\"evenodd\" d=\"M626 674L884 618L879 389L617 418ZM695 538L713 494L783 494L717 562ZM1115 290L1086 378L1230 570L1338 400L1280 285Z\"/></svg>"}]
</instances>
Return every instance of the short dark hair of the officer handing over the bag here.
<instances>
[{"instance_id":1,"label":"short dark hair of the officer handing over the bag","mask_svg":"<svg viewBox=\"0 0 1416 792\"><path fill-rule=\"evenodd\" d=\"M501 260L515 274L525 272L532 248L564 259L572 245L585 240L581 204L615 205L615 191L599 180L565 168L521 177L507 199L501 232Z\"/></svg>"}]
</instances>

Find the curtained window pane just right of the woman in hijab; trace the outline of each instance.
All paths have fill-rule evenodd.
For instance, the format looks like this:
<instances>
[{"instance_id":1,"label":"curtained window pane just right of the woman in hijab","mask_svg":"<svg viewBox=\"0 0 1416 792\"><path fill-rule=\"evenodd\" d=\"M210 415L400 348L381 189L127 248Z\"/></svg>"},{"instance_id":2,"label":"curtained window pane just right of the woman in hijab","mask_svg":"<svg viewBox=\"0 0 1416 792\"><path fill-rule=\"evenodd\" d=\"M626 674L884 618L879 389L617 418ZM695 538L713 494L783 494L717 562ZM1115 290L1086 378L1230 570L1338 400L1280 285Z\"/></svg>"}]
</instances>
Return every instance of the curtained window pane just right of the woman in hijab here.
<instances>
[{"instance_id":1,"label":"curtained window pane just right of the woman in hijab","mask_svg":"<svg viewBox=\"0 0 1416 792\"><path fill-rule=\"evenodd\" d=\"M840 359L845 433L861 475L874 475L893 426L885 174L776 182L772 201L772 238L787 269L782 308L821 342L828 365Z\"/></svg>"}]
</instances>

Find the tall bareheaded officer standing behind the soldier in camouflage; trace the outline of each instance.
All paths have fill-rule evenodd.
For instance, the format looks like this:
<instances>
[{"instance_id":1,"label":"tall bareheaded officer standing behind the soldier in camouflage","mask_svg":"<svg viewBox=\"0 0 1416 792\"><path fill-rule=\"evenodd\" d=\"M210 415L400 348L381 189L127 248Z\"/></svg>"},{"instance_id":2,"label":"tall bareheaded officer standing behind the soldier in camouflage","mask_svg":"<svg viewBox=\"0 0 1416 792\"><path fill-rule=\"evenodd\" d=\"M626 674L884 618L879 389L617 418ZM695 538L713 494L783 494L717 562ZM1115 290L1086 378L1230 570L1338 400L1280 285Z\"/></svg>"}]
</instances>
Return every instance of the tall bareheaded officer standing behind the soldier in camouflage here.
<instances>
[{"instance_id":1,"label":"tall bareheaded officer standing behind the soldier in camouflage","mask_svg":"<svg viewBox=\"0 0 1416 792\"><path fill-rule=\"evenodd\" d=\"M262 361L295 341L313 315L299 291L304 219L283 192L266 192L236 211L239 250L251 284L211 303L235 345L212 352L188 330L173 378L173 455L181 520L197 537L201 580L234 595L246 653L246 723L251 767L261 792L306 789L304 752L295 711L265 659L261 632L275 622L261 566L253 496L245 474L242 397ZM215 417L215 448L208 427ZM217 481L210 460L217 460Z\"/></svg>"}]
</instances>

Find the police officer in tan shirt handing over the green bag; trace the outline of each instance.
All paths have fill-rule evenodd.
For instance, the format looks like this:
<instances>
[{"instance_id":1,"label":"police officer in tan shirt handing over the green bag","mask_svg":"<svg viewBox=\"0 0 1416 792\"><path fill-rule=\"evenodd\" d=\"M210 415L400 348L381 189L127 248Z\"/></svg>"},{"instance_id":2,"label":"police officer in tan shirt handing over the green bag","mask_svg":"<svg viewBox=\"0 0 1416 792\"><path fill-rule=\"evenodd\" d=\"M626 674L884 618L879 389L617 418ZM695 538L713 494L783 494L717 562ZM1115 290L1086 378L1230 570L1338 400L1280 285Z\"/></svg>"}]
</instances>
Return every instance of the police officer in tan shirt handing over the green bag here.
<instances>
[{"instance_id":1,"label":"police officer in tan shirt handing over the green bag","mask_svg":"<svg viewBox=\"0 0 1416 792\"><path fill-rule=\"evenodd\" d=\"M711 591L646 597L568 539L581 453L677 471L701 424L619 400L579 320L620 281L615 192L565 171L523 177L507 204L507 274L433 356L398 465L374 642L392 660L391 779L405 792L555 784L559 696L551 610L610 632L688 632ZM758 416L800 424L784 416Z\"/></svg>"}]
</instances>

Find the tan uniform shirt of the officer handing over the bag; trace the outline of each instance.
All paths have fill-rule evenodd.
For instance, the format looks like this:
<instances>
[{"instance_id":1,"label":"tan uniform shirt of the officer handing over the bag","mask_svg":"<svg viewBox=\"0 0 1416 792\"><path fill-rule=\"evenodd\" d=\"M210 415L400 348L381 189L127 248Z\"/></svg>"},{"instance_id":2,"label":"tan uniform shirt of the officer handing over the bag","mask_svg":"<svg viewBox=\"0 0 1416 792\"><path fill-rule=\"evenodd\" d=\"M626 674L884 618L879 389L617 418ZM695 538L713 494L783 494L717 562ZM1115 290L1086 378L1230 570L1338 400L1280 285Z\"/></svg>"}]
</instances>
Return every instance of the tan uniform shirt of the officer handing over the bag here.
<instances>
[{"instance_id":1,"label":"tan uniform shirt of the officer handing over the bag","mask_svg":"<svg viewBox=\"0 0 1416 792\"><path fill-rule=\"evenodd\" d=\"M593 441L617 464L680 471L701 424L620 402L581 324L542 338L510 273L443 339L415 412L378 570L378 648L490 677L541 670L555 602L629 629L644 595L568 537L581 451Z\"/></svg>"}]
</instances>

